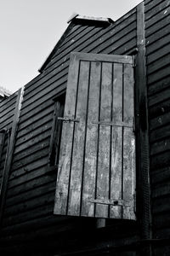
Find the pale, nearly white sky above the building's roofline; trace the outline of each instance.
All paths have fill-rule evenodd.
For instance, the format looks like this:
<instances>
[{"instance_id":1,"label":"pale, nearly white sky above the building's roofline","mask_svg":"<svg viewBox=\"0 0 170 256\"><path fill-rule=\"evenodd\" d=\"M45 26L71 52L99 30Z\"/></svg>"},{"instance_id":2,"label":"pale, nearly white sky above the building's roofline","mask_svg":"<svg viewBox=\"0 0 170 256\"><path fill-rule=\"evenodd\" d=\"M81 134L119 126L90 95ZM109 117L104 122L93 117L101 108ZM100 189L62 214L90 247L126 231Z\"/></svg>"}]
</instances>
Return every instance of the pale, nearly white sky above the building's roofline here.
<instances>
[{"instance_id":1,"label":"pale, nearly white sky above the building's roofline","mask_svg":"<svg viewBox=\"0 0 170 256\"><path fill-rule=\"evenodd\" d=\"M37 76L73 12L117 20L142 0L0 0L0 85L18 90Z\"/></svg>"}]
</instances>

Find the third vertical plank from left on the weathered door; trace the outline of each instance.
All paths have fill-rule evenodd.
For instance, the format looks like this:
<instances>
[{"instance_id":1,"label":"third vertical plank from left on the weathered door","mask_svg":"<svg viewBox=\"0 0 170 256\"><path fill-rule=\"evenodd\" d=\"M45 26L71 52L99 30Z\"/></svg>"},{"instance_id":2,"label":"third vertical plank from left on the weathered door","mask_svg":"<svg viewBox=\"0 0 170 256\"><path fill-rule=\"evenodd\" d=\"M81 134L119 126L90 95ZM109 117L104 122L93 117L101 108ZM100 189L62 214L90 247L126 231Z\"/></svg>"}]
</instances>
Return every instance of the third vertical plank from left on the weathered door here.
<instances>
[{"instance_id":1,"label":"third vertical plank from left on the weathered door","mask_svg":"<svg viewBox=\"0 0 170 256\"><path fill-rule=\"evenodd\" d=\"M101 63L93 61L90 72L88 126L82 188L82 216L89 217L94 217L94 203L90 203L89 200L95 197L98 125L94 125L93 122L99 120L100 72Z\"/></svg>"}]
</instances>

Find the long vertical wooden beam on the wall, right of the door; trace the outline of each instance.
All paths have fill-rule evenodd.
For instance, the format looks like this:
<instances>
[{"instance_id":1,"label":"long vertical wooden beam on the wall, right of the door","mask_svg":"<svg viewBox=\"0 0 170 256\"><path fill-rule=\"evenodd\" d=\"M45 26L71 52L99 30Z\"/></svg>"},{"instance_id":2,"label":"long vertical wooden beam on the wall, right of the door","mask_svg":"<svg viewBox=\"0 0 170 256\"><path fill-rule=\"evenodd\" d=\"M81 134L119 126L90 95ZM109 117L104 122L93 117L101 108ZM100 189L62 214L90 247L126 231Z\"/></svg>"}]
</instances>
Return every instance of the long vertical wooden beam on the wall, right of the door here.
<instances>
[{"instance_id":1,"label":"long vertical wooden beam on the wall, right of the door","mask_svg":"<svg viewBox=\"0 0 170 256\"><path fill-rule=\"evenodd\" d=\"M137 47L136 57L136 125L137 125L137 214L141 227L141 239L151 239L150 211L150 149L148 127L148 104L145 59L144 2L137 7ZM142 249L142 255L151 255L151 247Z\"/></svg>"}]
</instances>

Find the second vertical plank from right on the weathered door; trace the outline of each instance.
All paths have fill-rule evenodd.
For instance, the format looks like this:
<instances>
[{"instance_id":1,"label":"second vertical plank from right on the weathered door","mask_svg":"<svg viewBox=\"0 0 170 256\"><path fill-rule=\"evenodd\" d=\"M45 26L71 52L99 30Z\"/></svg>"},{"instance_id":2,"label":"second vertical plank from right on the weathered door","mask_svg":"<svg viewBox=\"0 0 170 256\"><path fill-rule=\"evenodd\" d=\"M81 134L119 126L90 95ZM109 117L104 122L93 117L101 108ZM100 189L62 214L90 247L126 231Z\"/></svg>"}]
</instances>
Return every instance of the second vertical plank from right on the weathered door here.
<instances>
[{"instance_id":1,"label":"second vertical plank from right on the weathered door","mask_svg":"<svg viewBox=\"0 0 170 256\"><path fill-rule=\"evenodd\" d=\"M113 65L112 122L122 122L122 64ZM122 127L112 127L111 199L122 199ZM111 206L110 218L122 218L122 207Z\"/></svg>"}]
</instances>

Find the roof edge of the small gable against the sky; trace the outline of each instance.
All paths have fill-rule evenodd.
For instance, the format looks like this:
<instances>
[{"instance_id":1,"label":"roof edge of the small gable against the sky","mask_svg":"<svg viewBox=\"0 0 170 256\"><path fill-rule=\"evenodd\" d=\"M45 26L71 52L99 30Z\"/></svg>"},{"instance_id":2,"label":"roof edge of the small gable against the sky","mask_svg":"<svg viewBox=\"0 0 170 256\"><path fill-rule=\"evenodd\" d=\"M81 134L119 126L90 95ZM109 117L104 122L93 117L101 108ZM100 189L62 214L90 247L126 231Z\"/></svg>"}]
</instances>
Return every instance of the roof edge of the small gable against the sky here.
<instances>
[{"instance_id":1,"label":"roof edge of the small gable against the sky","mask_svg":"<svg viewBox=\"0 0 170 256\"><path fill-rule=\"evenodd\" d=\"M59 42L54 46L54 49L48 55L48 58L46 59L46 61L44 61L44 63L42 64L42 67L38 69L38 72L42 73L45 67L47 67L48 62L50 61L50 59L52 58L56 50L59 48L59 45L63 43L67 34L70 32L72 26L74 26L75 24L88 24L88 23L92 23L92 24L95 23L98 26L110 26L111 23L113 22L114 21L111 20L110 18L102 18L102 17L96 18L96 17L89 17L89 16L81 16L76 13L73 13L73 15L71 15L71 18L67 21L67 23L70 23L69 26L66 28L64 34L59 39Z\"/></svg>"}]
</instances>

